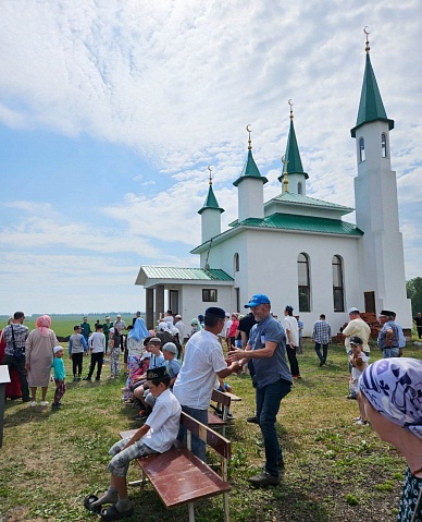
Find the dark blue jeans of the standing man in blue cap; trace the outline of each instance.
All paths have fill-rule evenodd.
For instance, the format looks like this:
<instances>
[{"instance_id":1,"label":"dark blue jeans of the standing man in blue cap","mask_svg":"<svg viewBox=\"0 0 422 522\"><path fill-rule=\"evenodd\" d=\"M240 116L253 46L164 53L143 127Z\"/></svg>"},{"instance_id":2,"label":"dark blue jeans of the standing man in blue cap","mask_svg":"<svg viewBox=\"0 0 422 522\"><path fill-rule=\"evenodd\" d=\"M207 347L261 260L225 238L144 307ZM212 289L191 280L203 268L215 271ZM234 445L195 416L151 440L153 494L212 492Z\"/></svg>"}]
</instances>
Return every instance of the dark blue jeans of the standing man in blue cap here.
<instances>
[{"instance_id":1,"label":"dark blue jeans of the standing man in blue cap","mask_svg":"<svg viewBox=\"0 0 422 522\"><path fill-rule=\"evenodd\" d=\"M290 389L291 383L284 379L257 388L257 417L265 446L265 471L274 476L278 476L278 461L283 460L275 422L280 403Z\"/></svg>"}]
</instances>

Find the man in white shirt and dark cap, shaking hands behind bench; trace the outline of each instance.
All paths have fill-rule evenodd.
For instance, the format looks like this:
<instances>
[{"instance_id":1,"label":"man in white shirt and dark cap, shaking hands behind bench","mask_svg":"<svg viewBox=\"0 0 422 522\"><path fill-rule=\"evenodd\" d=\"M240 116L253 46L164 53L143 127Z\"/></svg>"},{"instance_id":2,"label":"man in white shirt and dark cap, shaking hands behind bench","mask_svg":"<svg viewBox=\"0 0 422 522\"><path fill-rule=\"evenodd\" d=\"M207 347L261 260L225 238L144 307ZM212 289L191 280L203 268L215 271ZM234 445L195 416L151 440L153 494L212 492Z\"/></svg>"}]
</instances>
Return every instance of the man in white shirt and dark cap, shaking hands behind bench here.
<instances>
[{"instance_id":1,"label":"man in white shirt and dark cap, shaking hands behind bench","mask_svg":"<svg viewBox=\"0 0 422 522\"><path fill-rule=\"evenodd\" d=\"M223 349L218 338L224 328L224 309L215 306L207 308L204 328L194 333L188 340L183 366L173 387L173 393L181 403L182 410L206 425L208 425L208 408L215 385L215 376L224 378L241 369L237 362L227 366L224 360ZM178 439L183 439L184 436L182 428ZM191 447L193 452L204 461L206 444L193 436Z\"/></svg>"}]
</instances>

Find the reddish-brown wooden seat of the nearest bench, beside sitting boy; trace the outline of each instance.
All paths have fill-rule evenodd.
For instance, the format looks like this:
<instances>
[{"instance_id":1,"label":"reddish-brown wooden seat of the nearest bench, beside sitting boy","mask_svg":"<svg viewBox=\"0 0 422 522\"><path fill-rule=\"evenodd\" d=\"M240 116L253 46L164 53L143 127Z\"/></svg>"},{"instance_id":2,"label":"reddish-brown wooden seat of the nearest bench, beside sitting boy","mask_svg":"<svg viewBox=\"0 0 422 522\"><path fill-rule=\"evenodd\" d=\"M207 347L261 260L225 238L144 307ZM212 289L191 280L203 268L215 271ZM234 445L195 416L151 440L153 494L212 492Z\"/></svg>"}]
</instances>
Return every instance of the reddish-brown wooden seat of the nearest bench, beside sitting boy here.
<instances>
[{"instance_id":1,"label":"reddish-brown wooden seat of the nearest bench, beside sitting boy","mask_svg":"<svg viewBox=\"0 0 422 522\"><path fill-rule=\"evenodd\" d=\"M229 491L231 486L186 448L138 459L167 508Z\"/></svg>"}]
</instances>

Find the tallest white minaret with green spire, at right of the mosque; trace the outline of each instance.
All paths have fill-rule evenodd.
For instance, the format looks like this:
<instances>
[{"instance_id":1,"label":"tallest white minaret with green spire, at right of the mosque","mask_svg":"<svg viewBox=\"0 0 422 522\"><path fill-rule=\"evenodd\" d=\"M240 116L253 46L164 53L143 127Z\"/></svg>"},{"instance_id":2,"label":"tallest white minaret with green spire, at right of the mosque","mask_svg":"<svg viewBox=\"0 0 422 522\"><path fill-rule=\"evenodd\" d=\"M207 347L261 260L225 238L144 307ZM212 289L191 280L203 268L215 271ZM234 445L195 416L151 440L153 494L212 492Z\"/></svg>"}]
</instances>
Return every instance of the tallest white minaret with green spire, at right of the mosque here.
<instances>
[{"instance_id":1,"label":"tallest white minaret with green spire, at right of the mosque","mask_svg":"<svg viewBox=\"0 0 422 522\"><path fill-rule=\"evenodd\" d=\"M375 311L393 309L397 320L411 327L410 301L406 294L402 236L399 231L396 172L392 170L387 118L370 59L367 35L367 63L356 126L358 175L355 178L356 223L363 230L360 284L374 292ZM363 298L363 296L362 296ZM363 302L363 299L362 299ZM368 307L368 306L367 306Z\"/></svg>"}]
</instances>

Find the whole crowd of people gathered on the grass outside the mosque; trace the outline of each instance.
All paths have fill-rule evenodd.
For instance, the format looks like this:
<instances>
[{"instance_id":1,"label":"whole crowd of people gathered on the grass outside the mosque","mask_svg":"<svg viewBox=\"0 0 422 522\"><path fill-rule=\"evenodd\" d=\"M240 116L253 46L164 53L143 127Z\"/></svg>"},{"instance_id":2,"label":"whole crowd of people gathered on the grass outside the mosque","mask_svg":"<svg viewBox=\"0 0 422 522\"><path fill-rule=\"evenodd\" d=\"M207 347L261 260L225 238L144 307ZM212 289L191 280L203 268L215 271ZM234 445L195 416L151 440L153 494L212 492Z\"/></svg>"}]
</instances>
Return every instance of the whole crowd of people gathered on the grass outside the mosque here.
<instances>
[{"instance_id":1,"label":"whole crowd of people gathered on the grass outside the mosque","mask_svg":"<svg viewBox=\"0 0 422 522\"><path fill-rule=\"evenodd\" d=\"M258 424L265 451L262 472L249 482L256 487L280 484L284 457L276 416L294 381L301 379L297 354L302 350L303 324L288 304L284 307L284 319L278 320L264 294L255 294L245 307L249 312L244 316L209 307L190 321L190 333L186 332L182 317L173 316L171 311L160 316L154 330L147 329L140 313L129 326L117 315L113 323L110 317L103 324L97 321L95 331L87 317L74 327L69 340L74 383L90 381L95 372L96 380L100 380L105 357L110 363L108 378L119 377L123 352L126 383L122 399L126 404L139 406L135 418L142 423L132 438L110 449L111 479L107 493L100 498L91 495L86 499L86 507L101 512L102 520L132 514L126 485L129 462L151 452L164 452L176 439L185 440L186 434L178 422L181 411L207 425L212 391L218 387L224 391L223 379L233 373L250 374L256 415L247 421ZM408 471L398 520L422 520L422 362L402 357L406 345L402 329L395 320L395 313L384 309L380 314L377 337L383 359L369 364L371 328L358 308L349 308L348 313L350 320L343 335L350 369L347 398L357 399L359 404L359 416L353 421L362 426L370 423L382 438L402 452ZM24 319L24 314L16 312L0 338L4 348L2 364L9 366L16 387L10 397L22 397L35 406L40 388L40 404L46 406L53 371L52 408L58 409L66 390L64 350L50 328L48 315L38 317L32 331L23 325ZM325 366L332 331L324 314L313 325L311 339L319 365ZM88 352L89 371L83 378L84 355ZM193 436L191 448L206 461L202 440ZM110 506L102 509L103 505Z\"/></svg>"}]
</instances>

